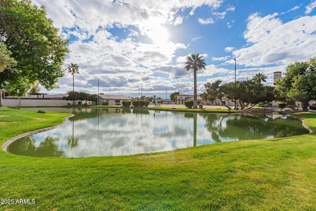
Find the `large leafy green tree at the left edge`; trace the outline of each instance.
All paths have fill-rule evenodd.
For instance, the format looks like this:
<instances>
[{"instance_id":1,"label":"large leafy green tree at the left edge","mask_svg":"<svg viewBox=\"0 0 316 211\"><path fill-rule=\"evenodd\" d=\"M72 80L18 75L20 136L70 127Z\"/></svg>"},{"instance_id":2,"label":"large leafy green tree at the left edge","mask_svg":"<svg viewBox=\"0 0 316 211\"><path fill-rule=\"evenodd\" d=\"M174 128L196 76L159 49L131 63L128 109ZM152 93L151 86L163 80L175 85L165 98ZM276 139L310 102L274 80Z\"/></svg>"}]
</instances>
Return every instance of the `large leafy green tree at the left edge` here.
<instances>
[{"instance_id":1,"label":"large leafy green tree at the left edge","mask_svg":"<svg viewBox=\"0 0 316 211\"><path fill-rule=\"evenodd\" d=\"M57 87L69 52L43 6L31 0L0 0L0 41L16 63L0 71L0 89L23 96L39 81L47 90Z\"/></svg>"}]
</instances>

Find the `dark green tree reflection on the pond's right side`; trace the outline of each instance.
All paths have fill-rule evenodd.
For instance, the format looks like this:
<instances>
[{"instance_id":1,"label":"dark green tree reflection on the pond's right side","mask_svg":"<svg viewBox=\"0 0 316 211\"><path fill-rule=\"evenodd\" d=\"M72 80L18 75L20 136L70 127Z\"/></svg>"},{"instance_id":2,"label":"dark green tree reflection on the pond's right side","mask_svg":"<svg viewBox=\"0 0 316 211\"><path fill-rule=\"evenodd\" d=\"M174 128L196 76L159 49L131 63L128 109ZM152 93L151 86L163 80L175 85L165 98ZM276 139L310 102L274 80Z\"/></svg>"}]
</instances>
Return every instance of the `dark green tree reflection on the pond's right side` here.
<instances>
[{"instance_id":1,"label":"dark green tree reflection on the pond's right side","mask_svg":"<svg viewBox=\"0 0 316 211\"><path fill-rule=\"evenodd\" d=\"M269 136L279 138L307 133L304 127L298 127L298 121L272 119L265 114L256 115L206 115L200 114L205 120L208 131L215 142L223 139L251 140L264 139ZM226 121L223 121L225 118ZM218 121L220 123L218 124ZM224 124L225 123L225 124Z\"/></svg>"}]
</instances>

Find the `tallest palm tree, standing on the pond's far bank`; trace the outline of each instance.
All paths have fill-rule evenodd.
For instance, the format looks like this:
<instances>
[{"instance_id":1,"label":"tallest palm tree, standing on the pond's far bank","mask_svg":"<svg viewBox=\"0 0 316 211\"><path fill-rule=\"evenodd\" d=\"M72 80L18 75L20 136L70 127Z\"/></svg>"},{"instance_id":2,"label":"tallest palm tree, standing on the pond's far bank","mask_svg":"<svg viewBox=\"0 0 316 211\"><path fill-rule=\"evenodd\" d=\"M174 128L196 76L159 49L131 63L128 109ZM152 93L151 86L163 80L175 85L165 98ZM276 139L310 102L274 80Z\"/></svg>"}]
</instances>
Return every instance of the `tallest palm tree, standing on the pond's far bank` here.
<instances>
[{"instance_id":1,"label":"tallest palm tree, standing on the pond's far bank","mask_svg":"<svg viewBox=\"0 0 316 211\"><path fill-rule=\"evenodd\" d=\"M186 71L193 70L194 71L194 101L193 101L193 108L197 108L197 71L204 69L205 70L205 60L202 59L203 56L199 56L195 54L191 54L191 56L187 56L187 62L184 69Z\"/></svg>"}]
</instances>

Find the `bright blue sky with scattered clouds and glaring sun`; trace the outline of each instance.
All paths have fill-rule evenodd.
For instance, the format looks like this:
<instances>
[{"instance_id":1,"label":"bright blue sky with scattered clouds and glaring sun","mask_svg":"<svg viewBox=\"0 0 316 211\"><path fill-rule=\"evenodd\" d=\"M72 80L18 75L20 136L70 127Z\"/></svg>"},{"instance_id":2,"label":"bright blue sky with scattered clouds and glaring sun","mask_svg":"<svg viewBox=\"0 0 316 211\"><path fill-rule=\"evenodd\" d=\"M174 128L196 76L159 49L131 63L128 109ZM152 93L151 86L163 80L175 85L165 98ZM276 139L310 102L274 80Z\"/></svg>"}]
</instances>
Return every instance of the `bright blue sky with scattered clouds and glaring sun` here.
<instances>
[{"instance_id":1,"label":"bright blue sky with scattered clouds and glaring sun","mask_svg":"<svg viewBox=\"0 0 316 211\"><path fill-rule=\"evenodd\" d=\"M191 53L203 55L204 84L251 79L316 56L316 0L32 0L70 40L65 68L78 64L75 90L167 98L193 94L193 72L184 70ZM59 88L72 90L72 76Z\"/></svg>"}]
</instances>

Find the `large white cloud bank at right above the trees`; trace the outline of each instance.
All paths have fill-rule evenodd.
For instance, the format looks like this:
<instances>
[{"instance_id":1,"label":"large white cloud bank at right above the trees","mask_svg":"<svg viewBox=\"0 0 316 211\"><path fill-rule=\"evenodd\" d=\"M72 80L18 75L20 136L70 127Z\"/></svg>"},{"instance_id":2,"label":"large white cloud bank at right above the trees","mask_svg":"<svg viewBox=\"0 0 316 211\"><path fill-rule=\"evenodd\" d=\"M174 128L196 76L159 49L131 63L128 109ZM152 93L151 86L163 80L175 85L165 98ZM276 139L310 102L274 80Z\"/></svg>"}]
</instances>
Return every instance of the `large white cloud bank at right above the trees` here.
<instances>
[{"instance_id":1,"label":"large white cloud bank at right above the trees","mask_svg":"<svg viewBox=\"0 0 316 211\"><path fill-rule=\"evenodd\" d=\"M248 46L233 52L239 64L261 66L289 64L315 56L316 16L304 16L282 23L277 14L248 18L244 38Z\"/></svg>"}]
</instances>

